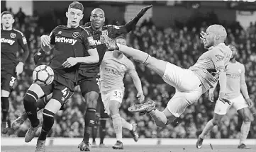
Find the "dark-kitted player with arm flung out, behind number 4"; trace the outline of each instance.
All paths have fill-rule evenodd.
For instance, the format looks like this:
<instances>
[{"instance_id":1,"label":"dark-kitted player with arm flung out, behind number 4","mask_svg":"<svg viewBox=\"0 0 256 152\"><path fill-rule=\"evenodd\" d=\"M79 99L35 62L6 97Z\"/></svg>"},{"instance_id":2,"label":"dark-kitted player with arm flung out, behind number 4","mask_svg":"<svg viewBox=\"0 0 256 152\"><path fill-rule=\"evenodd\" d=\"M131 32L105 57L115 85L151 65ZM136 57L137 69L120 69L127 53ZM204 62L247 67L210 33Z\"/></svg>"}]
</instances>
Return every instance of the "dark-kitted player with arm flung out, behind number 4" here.
<instances>
[{"instance_id":1,"label":"dark-kitted player with arm flung out, behind number 4","mask_svg":"<svg viewBox=\"0 0 256 152\"><path fill-rule=\"evenodd\" d=\"M147 6L142 8L140 13L138 13L133 20L129 21L123 26L104 25L104 11L100 8L95 8L93 11L91 11L91 24L89 27L86 27L88 24L84 25L84 27L94 37L94 44L96 45L99 53L99 62L96 64L82 64L79 69L79 86L82 96L88 104L84 115L84 138L78 146L81 151L89 151L89 138L92 127L94 127L97 99L99 98L99 86L96 84L96 75L99 73L99 66L107 49L106 45L100 42L100 36L108 35L109 37L115 39L121 34L129 33L130 30L135 28L135 25L138 23L139 19L151 7L152 6Z\"/></svg>"}]
</instances>

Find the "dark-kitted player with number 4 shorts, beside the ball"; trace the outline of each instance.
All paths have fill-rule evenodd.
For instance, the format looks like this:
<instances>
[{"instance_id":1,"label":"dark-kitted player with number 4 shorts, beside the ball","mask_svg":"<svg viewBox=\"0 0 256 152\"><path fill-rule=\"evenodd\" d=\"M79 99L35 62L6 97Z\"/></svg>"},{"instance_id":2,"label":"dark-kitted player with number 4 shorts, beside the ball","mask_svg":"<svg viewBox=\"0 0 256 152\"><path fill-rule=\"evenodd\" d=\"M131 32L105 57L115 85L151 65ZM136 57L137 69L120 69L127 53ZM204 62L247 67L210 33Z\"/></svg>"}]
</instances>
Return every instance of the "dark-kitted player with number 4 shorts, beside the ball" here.
<instances>
[{"instance_id":1,"label":"dark-kitted player with number 4 shorts, beside the ball","mask_svg":"<svg viewBox=\"0 0 256 152\"><path fill-rule=\"evenodd\" d=\"M37 117L36 101L45 95L52 93L52 98L43 110L43 125L35 151L45 151L45 140L48 132L54 124L55 113L72 96L74 85L77 83L77 72L79 63L99 62L99 55L95 45L91 42L92 37L84 28L79 27L79 22L83 18L84 6L77 1L69 5L67 25L57 26L50 36L43 35L42 48L45 52L52 47L53 57L50 67L54 71L54 81L47 86L38 86L33 83L24 96L23 105L25 107L31 126L25 136L25 141L29 142L35 136L35 132L41 126ZM84 57L85 52L90 56Z\"/></svg>"}]
</instances>

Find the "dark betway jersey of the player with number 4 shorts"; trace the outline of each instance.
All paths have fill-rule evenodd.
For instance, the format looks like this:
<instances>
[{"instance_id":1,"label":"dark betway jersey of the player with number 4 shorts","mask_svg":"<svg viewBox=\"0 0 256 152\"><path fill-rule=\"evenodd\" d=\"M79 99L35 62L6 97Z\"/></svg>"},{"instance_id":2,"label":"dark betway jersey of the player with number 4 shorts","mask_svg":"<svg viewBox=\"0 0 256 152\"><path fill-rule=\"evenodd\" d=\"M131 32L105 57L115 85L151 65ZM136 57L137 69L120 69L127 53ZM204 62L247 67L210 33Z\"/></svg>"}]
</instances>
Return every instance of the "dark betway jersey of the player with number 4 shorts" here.
<instances>
[{"instance_id":1,"label":"dark betway jersey of the player with number 4 shorts","mask_svg":"<svg viewBox=\"0 0 256 152\"><path fill-rule=\"evenodd\" d=\"M93 37L82 27L67 28L67 26L60 25L50 33L50 41L54 47L49 66L55 73L76 81L75 74L79 69L79 64L70 68L65 68L62 64L69 57L85 57L89 54L87 50L96 47L93 43Z\"/></svg>"}]
</instances>

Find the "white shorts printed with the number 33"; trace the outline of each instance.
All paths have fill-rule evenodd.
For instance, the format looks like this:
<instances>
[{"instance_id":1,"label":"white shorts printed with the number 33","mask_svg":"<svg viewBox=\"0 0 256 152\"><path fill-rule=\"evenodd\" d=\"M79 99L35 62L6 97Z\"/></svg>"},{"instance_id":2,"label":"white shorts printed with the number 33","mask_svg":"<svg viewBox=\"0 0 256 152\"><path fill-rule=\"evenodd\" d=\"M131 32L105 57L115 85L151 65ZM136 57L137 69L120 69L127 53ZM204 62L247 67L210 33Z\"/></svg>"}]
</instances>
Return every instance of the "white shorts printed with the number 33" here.
<instances>
[{"instance_id":1,"label":"white shorts printed with the number 33","mask_svg":"<svg viewBox=\"0 0 256 152\"><path fill-rule=\"evenodd\" d=\"M111 104L111 101L115 100L121 104L123 100L123 91L116 89L109 91L109 93L101 93L101 98L106 110L105 112L110 115L109 105Z\"/></svg>"}]
</instances>

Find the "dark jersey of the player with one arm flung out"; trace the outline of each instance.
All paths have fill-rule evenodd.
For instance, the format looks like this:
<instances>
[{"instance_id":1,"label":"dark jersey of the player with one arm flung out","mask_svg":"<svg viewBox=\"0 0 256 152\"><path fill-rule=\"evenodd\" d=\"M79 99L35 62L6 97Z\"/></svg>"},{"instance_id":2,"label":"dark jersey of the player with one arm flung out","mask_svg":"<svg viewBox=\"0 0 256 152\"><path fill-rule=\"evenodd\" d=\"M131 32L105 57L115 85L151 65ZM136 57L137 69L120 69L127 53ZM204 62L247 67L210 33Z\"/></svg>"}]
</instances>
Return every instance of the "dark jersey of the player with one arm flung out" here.
<instances>
[{"instance_id":1,"label":"dark jersey of the player with one arm flung out","mask_svg":"<svg viewBox=\"0 0 256 152\"><path fill-rule=\"evenodd\" d=\"M102 28L102 30L94 30L91 26L89 27L84 27L86 30L89 31L89 33L91 33L91 35L94 37L94 45L96 45L96 49L98 51L99 54L99 62L96 64L81 64L80 68L79 68L79 74L82 74L84 76L87 76L87 74L91 75L91 74L98 74L99 73L99 65L102 62L102 59L105 55L106 52L106 45L102 44L100 41L100 36L101 35L108 35L108 37L115 39L116 37L118 37L121 34L127 33L126 29L123 28L123 26L116 26L116 25L106 25ZM86 54L87 56L89 54Z\"/></svg>"}]
</instances>

